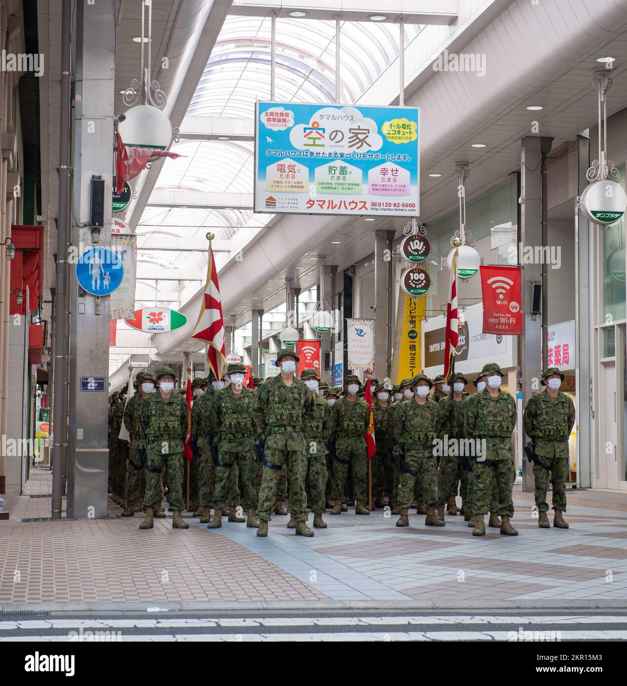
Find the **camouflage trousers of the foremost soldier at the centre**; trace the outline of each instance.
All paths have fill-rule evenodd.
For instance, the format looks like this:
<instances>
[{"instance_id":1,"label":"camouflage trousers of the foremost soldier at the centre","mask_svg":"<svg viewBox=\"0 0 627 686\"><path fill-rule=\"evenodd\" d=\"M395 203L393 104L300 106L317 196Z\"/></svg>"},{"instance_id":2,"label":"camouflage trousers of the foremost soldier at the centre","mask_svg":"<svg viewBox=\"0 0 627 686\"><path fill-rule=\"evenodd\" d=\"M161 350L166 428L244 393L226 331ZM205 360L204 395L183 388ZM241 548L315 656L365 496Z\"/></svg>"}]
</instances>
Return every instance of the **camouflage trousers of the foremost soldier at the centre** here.
<instances>
[{"instance_id":1,"label":"camouflage trousers of the foremost soldier at the centre","mask_svg":"<svg viewBox=\"0 0 627 686\"><path fill-rule=\"evenodd\" d=\"M307 458L304 450L266 449L265 459L274 465L285 467L289 483L289 512L296 521L307 521L307 497L305 496L305 477L307 475ZM261 521L270 521L277 500L282 469L273 469L263 465L261 488L259 489L259 507L257 517Z\"/></svg>"}]
</instances>

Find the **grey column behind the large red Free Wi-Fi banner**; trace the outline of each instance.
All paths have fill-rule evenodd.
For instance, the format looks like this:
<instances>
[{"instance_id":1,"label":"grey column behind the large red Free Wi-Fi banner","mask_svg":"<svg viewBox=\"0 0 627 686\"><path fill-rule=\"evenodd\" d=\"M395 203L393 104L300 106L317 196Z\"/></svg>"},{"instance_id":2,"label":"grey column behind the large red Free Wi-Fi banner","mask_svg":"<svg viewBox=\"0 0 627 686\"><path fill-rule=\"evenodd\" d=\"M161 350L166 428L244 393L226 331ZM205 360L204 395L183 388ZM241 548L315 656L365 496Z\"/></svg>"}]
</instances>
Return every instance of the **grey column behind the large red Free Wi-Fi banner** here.
<instances>
[{"instance_id":1,"label":"grey column behind the large red Free Wi-Fi banner","mask_svg":"<svg viewBox=\"0 0 627 686\"><path fill-rule=\"evenodd\" d=\"M542 158L551 149L551 138L525 136L521 152L521 242L526 246L542 245ZM540 388L542 372L542 318L531 314L534 284L542 283L542 265L524 264L521 270L523 300L523 335L521 370L523 409L528 399ZM519 431L524 431L519 427ZM523 462L523 490L535 490L533 466Z\"/></svg>"}]
</instances>

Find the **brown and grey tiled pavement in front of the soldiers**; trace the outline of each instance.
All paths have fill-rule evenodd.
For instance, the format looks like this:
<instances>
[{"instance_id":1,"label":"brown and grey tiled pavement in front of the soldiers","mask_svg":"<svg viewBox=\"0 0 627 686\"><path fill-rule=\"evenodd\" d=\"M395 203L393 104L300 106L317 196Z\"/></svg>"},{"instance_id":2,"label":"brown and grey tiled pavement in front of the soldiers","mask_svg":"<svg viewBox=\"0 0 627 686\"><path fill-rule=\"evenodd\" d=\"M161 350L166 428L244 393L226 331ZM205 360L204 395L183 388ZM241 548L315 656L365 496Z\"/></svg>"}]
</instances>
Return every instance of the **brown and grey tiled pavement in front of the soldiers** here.
<instances>
[{"instance_id":1,"label":"brown and grey tiled pavement in front of the soldiers","mask_svg":"<svg viewBox=\"0 0 627 686\"><path fill-rule=\"evenodd\" d=\"M267 539L226 519L211 531L198 519L187 531L156 520L148 532L139 514L13 519L0 523L0 603L624 603L627 493L569 491L567 531L539 529L530 496L514 490L517 537L473 537L462 517L436 529L410 514L399 529L382 510L327 514L313 539L294 536L287 517L272 519ZM36 516L20 505L12 517Z\"/></svg>"}]
</instances>

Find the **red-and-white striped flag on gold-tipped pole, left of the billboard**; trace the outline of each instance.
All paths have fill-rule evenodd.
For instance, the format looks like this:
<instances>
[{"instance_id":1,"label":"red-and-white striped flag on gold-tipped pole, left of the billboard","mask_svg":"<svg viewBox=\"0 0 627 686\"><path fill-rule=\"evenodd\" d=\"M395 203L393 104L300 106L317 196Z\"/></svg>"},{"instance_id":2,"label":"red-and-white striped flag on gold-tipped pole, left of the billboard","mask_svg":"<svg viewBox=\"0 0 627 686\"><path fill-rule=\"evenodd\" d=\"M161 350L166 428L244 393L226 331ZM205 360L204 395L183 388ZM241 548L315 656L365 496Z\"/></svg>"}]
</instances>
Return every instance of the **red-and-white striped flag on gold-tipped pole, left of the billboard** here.
<instances>
[{"instance_id":1,"label":"red-and-white striped flag on gold-tipped pole, left of the billboard","mask_svg":"<svg viewBox=\"0 0 627 686\"><path fill-rule=\"evenodd\" d=\"M207 363L213 371L216 381L221 381L226 370L226 353L224 351L224 319L222 318L222 300L220 286L217 283L217 269L213 259L213 250L209 244L209 264L204 285L204 297L200 314L191 338L204 341L207 348Z\"/></svg>"}]
</instances>

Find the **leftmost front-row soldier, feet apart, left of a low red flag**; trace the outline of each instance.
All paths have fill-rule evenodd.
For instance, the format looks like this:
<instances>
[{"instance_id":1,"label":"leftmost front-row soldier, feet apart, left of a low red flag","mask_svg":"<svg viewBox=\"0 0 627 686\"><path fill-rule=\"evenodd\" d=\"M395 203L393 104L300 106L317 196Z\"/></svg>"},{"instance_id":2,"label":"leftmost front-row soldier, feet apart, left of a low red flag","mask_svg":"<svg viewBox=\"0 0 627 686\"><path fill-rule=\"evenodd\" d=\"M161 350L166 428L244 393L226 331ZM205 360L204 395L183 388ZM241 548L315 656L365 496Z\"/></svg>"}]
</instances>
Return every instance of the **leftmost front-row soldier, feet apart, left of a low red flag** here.
<instances>
[{"instance_id":1,"label":"leftmost front-row soldier, feet apart, left of a low red flag","mask_svg":"<svg viewBox=\"0 0 627 686\"><path fill-rule=\"evenodd\" d=\"M152 529L153 514L158 510L160 475L165 467L165 483L172 508L172 528L189 529L183 521L183 444L187 438L187 402L174 392L176 375L162 367L156 375L158 392L141 403L139 425L146 452L146 490L143 509L146 517L140 529ZM139 449L139 448L138 448Z\"/></svg>"}]
</instances>

